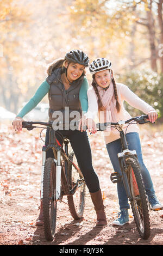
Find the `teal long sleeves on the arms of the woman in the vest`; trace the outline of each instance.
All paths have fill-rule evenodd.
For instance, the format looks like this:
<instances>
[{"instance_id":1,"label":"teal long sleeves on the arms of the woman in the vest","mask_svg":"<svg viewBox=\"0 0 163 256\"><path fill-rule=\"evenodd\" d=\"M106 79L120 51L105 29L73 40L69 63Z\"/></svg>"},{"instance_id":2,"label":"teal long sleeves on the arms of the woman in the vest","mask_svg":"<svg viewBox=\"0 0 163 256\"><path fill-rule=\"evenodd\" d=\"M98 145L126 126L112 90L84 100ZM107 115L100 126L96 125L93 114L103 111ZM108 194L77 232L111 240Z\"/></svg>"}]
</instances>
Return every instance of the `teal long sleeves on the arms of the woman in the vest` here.
<instances>
[{"instance_id":1,"label":"teal long sleeves on the arms of the woman in the vest","mask_svg":"<svg viewBox=\"0 0 163 256\"><path fill-rule=\"evenodd\" d=\"M88 101L87 101L87 89L89 88L89 84L87 79L84 78L82 86L79 92L79 100L82 107L82 111L84 113L87 112ZM36 90L34 96L27 102L27 104L21 109L21 111L16 115L16 117L23 118L24 115L28 114L32 111L33 108L37 106L37 104L45 97L45 95L49 92L50 86L47 81L44 81L41 86Z\"/></svg>"}]
</instances>

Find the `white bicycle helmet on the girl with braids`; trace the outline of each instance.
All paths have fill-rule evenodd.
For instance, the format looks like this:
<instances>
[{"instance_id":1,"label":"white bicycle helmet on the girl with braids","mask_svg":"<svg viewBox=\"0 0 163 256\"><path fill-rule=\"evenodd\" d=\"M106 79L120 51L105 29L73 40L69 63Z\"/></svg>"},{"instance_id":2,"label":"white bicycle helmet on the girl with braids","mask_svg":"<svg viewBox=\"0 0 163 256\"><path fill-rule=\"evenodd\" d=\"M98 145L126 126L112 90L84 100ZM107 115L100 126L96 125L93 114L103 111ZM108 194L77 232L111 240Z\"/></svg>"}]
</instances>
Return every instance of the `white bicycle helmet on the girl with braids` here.
<instances>
[{"instance_id":1,"label":"white bicycle helmet on the girl with braids","mask_svg":"<svg viewBox=\"0 0 163 256\"><path fill-rule=\"evenodd\" d=\"M95 74L96 72L99 72L105 69L110 69L110 68L111 68L111 62L110 60L105 58L95 59L89 66L89 69L92 75Z\"/></svg>"}]
</instances>

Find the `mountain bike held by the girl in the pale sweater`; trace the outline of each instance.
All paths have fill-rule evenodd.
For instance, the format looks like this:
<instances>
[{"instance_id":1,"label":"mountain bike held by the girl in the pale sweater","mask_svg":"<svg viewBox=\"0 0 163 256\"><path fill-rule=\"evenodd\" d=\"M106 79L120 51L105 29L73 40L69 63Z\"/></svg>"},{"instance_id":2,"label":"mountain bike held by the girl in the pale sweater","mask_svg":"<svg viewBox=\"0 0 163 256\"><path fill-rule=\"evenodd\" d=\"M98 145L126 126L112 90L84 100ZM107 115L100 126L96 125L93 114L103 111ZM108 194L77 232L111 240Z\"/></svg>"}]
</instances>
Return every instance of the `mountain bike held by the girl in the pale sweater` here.
<instances>
[{"instance_id":1,"label":"mountain bike held by the girl in the pale sweater","mask_svg":"<svg viewBox=\"0 0 163 256\"><path fill-rule=\"evenodd\" d=\"M143 185L136 151L128 149L126 133L123 131L123 126L124 124L133 124L134 121L135 124L145 124L149 122L147 119L148 115L141 115L127 121L97 124L98 131L104 131L106 130L106 127L111 126L120 132L122 151L121 153L118 153L118 161L120 163L122 175L118 172L114 172L111 173L110 179L113 183L117 183L122 179L127 197L130 200L136 227L142 239L148 239L150 235L149 203L145 186Z\"/></svg>"}]
</instances>

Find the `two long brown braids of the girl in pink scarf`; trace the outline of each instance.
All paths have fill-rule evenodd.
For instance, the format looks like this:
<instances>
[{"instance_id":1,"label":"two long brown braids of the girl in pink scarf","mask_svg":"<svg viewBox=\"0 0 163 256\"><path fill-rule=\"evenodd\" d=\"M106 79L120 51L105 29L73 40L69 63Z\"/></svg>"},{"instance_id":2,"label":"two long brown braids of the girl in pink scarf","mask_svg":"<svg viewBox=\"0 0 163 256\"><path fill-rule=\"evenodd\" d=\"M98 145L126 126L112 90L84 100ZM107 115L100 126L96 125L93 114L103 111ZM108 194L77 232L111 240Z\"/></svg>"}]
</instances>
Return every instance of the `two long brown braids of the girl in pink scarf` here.
<instances>
[{"instance_id":1,"label":"two long brown braids of the girl in pink scarf","mask_svg":"<svg viewBox=\"0 0 163 256\"><path fill-rule=\"evenodd\" d=\"M111 72L112 72L112 70L111 70ZM102 104L101 97L100 97L98 89L97 89L98 84L96 83L96 80L95 80L95 74L92 76L92 78L93 78L92 86L93 86L93 88L95 90L95 93L97 95L97 98L98 98L98 109L99 109L99 111L105 111L105 108L103 107L103 104ZM115 96L115 99L116 99L116 109L117 109L117 112L120 112L121 105L118 102L117 87L116 87L116 82L115 82L114 77L112 77L112 84L114 86L114 96Z\"/></svg>"}]
</instances>

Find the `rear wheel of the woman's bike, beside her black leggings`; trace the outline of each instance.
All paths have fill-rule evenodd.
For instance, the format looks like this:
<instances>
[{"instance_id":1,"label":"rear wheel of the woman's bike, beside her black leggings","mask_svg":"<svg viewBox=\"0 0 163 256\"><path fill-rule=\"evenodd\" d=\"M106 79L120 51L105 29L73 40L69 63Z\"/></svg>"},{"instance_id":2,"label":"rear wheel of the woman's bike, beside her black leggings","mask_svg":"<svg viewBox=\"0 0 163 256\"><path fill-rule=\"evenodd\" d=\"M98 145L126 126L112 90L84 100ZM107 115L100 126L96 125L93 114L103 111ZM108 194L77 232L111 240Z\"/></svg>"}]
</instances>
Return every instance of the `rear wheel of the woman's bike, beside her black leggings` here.
<instances>
[{"instance_id":1,"label":"rear wheel of the woman's bike, beside her black leggings","mask_svg":"<svg viewBox=\"0 0 163 256\"><path fill-rule=\"evenodd\" d=\"M78 164L73 151L68 154L68 158L76 165ZM76 168L74 168L71 163L68 163L68 182L70 184L70 189L76 185L78 179L80 180L82 178L83 176L79 174ZM85 183L78 187L73 195L67 196L67 201L72 217L74 220L79 220L79 218L83 216L85 207Z\"/></svg>"}]
</instances>

